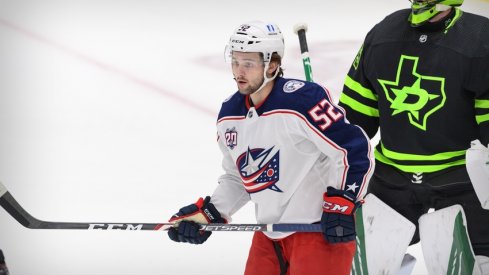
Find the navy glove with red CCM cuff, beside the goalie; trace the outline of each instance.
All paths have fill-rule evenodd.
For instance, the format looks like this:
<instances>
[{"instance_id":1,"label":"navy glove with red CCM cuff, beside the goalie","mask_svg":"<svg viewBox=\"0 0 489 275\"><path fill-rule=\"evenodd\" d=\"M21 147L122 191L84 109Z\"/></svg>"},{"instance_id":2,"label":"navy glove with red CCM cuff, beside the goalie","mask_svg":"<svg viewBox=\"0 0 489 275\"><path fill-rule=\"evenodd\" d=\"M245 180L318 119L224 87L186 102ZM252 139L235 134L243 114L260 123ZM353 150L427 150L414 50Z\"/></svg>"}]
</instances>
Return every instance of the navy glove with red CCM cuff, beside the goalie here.
<instances>
[{"instance_id":1,"label":"navy glove with red CCM cuff, beside the goalie","mask_svg":"<svg viewBox=\"0 0 489 275\"><path fill-rule=\"evenodd\" d=\"M353 194L328 187L323 197L321 227L330 243L349 242L356 238L355 210L362 205Z\"/></svg>"}]
</instances>

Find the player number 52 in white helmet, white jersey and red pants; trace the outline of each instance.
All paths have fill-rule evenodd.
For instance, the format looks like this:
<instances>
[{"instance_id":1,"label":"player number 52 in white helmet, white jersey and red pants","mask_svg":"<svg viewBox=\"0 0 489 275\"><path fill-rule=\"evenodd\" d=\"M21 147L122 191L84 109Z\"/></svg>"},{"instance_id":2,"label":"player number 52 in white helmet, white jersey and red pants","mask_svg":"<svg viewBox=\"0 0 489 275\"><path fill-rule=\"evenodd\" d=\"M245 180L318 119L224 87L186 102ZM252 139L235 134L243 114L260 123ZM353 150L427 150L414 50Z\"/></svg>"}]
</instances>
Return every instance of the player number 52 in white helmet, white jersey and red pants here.
<instances>
[{"instance_id":1,"label":"player number 52 in white helmet, white jersey and red pants","mask_svg":"<svg viewBox=\"0 0 489 275\"><path fill-rule=\"evenodd\" d=\"M239 26L226 47L238 91L217 120L225 174L212 196L180 209L168 231L201 244L199 223L229 222L248 201L258 223L321 223L323 233L257 232L245 274L350 274L355 209L373 155L323 87L282 78L284 41L275 24Z\"/></svg>"}]
</instances>

